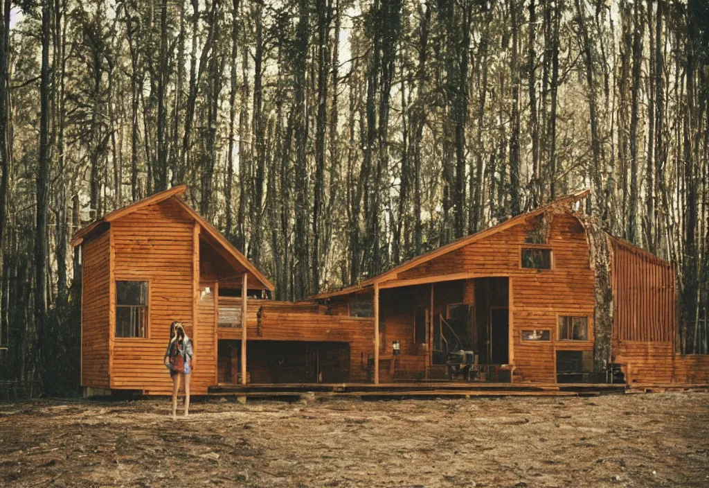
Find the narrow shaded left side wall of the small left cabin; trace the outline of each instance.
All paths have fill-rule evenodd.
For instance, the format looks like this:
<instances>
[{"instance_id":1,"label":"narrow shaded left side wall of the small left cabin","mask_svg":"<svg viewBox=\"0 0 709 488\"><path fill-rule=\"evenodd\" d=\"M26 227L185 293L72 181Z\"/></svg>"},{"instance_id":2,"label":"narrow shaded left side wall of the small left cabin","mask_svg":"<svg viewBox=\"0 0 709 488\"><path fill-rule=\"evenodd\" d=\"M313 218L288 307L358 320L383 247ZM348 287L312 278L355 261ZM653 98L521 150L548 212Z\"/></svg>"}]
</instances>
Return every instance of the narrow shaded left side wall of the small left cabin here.
<instances>
[{"instance_id":1,"label":"narrow shaded left side wall of the small left cabin","mask_svg":"<svg viewBox=\"0 0 709 488\"><path fill-rule=\"evenodd\" d=\"M82 248L82 387L108 388L108 232Z\"/></svg>"}]
</instances>

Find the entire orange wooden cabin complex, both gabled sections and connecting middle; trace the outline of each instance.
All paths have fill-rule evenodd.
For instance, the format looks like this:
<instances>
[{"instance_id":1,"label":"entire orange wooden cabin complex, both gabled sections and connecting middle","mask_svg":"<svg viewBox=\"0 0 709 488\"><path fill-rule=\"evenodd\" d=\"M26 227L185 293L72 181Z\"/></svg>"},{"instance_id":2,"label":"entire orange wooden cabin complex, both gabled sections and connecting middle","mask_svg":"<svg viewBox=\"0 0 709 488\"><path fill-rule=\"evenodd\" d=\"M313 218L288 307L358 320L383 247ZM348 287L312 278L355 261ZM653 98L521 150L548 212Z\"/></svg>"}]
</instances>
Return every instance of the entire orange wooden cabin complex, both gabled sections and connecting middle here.
<instances>
[{"instance_id":1,"label":"entire orange wooden cabin complex, both gabled sections and connecting middle","mask_svg":"<svg viewBox=\"0 0 709 488\"><path fill-rule=\"evenodd\" d=\"M673 267L605 233L607 259L595 259L599 243L574 209L588 192L288 302L268 299L271 282L185 204L185 190L114 211L72 240L89 394L171 392L162 360L174 320L194 339L194 394L447 379L457 350L493 382L601 382L608 365L628 382L709 381L709 356L676 353Z\"/></svg>"}]
</instances>

